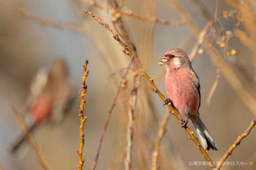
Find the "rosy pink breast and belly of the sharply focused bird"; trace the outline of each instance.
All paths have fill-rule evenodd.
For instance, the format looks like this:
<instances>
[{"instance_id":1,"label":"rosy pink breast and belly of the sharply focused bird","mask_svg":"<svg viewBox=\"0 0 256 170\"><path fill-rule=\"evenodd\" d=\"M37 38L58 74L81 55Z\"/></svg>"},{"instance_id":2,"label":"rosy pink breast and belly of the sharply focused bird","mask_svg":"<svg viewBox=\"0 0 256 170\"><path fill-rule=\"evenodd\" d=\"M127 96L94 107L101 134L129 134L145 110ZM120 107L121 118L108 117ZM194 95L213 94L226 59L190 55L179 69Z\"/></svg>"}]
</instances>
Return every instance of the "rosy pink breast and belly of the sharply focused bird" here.
<instances>
[{"instance_id":1,"label":"rosy pink breast and belly of the sharply focused bird","mask_svg":"<svg viewBox=\"0 0 256 170\"><path fill-rule=\"evenodd\" d=\"M181 115L196 115L200 103L196 76L190 70L168 70L165 78L168 98Z\"/></svg>"}]
</instances>

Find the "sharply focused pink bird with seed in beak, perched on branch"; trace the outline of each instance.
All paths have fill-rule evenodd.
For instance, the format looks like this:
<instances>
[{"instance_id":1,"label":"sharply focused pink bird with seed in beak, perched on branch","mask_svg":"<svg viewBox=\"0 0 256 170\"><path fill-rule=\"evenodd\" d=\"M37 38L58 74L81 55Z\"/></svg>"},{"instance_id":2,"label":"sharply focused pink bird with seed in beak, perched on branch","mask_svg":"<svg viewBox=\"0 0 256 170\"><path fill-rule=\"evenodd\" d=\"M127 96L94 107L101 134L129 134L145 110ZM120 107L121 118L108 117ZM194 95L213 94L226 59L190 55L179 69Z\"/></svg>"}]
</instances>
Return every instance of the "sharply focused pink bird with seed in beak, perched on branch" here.
<instances>
[{"instance_id":1,"label":"sharply focused pink bird with seed in beak, perched on branch","mask_svg":"<svg viewBox=\"0 0 256 170\"><path fill-rule=\"evenodd\" d=\"M173 48L165 53L162 62L167 69L165 87L168 99L165 104L171 102L178 114L187 117L182 127L186 126L188 118L192 120L205 150L218 150L198 113L201 99L200 83L188 55L182 49Z\"/></svg>"}]
</instances>

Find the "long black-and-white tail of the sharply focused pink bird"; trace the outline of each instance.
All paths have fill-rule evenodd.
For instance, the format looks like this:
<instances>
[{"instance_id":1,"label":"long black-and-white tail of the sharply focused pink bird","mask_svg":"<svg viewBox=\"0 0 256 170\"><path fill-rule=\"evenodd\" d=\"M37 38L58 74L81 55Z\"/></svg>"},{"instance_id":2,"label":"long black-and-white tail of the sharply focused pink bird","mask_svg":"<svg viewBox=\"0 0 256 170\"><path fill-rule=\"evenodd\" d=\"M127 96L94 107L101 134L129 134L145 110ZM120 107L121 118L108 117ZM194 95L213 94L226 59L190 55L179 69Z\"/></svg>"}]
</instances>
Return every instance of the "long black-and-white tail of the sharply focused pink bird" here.
<instances>
[{"instance_id":1,"label":"long black-and-white tail of the sharply focused pink bird","mask_svg":"<svg viewBox=\"0 0 256 170\"><path fill-rule=\"evenodd\" d=\"M196 132L198 134L198 137L200 139L200 143L201 143L202 147L206 150L209 150L210 148L213 150L218 150L216 143L212 139L212 136L210 135L209 131L207 130L206 126L204 125L199 114L198 114L197 119L192 122L196 128Z\"/></svg>"}]
</instances>

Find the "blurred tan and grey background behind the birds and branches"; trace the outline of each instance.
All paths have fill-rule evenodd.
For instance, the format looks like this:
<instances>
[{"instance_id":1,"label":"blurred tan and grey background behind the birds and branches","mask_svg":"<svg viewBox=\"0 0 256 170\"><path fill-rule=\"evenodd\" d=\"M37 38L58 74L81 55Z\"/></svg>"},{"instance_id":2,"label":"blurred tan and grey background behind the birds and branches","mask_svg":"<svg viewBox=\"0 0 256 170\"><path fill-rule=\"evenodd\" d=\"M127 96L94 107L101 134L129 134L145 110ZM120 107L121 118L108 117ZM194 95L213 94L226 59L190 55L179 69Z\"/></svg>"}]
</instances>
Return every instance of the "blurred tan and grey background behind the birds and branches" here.
<instances>
[{"instance_id":1,"label":"blurred tan and grey background behind the birds and branches","mask_svg":"<svg viewBox=\"0 0 256 170\"><path fill-rule=\"evenodd\" d=\"M95 3L96 2L96 3ZM256 117L256 2L254 0L8 0L0 7L0 165L4 170L42 169L33 150L25 144L15 154L10 147L21 133L6 105L10 102L24 115L31 111L28 104L31 84L39 70L48 72L56 59L64 59L68 67L65 83L72 88L56 92L58 96L70 92L73 102L62 103L66 116L60 121L44 121L33 131L42 147L50 169L76 169L80 142L80 117L78 110L82 90L82 65L89 59L90 70L86 84L84 115L84 169L92 166L98 139L102 133L108 110L124 76L130 58L122 47L97 21L84 14L90 10L112 29L117 28L120 38L127 40L119 28L123 22L130 41L137 49L142 66L160 92L166 96L164 78L166 68L158 66L159 59L173 47L184 49L195 57L192 66L201 84L200 115L219 150L208 151L217 164L237 137L244 133ZM115 11L116 7L118 10ZM120 11L120 12L118 12ZM131 14L144 16L139 19ZM122 21L120 18L122 18ZM154 17L166 21L185 21L162 24ZM208 21L213 24L206 27ZM122 26L122 25L121 25ZM204 32L200 34L201 30ZM205 37L204 42L198 38ZM126 41L126 44L130 44ZM211 45L211 46L210 46ZM132 47L129 47L131 49ZM199 53L198 54L198 48ZM191 53L195 51L195 53ZM220 58L221 57L221 58ZM134 70L135 69L135 70ZM132 65L121 88L116 106L111 112L107 132L102 141L96 169L127 169L124 157L127 153L129 133L130 96L134 80L139 82L136 94L132 169L150 169L152 152L158 136L159 123L168 113L163 101L150 90L146 78L134 76ZM57 71L57 76L61 74ZM49 77L49 73L46 74ZM140 75L140 72L138 73ZM47 77L46 76L46 77ZM68 80L68 81L66 81ZM48 80L49 81L49 80ZM58 81L59 82L59 81ZM40 84L40 82L39 82ZM52 83L54 84L54 83ZM51 87L52 87L51 86ZM44 90L46 88L43 88ZM42 90L41 94L45 94ZM39 90L36 90L39 92ZM209 94L211 97L209 97ZM74 97L72 97L74 96ZM210 98L210 103L209 103ZM52 97L56 104L62 96ZM62 106L64 107L64 106ZM45 107L44 107L45 108ZM55 105L54 105L55 108ZM53 109L51 107L51 109ZM62 111L63 111L62 110ZM194 131L189 121L188 127ZM128 134L128 135L127 135ZM224 165L221 169L255 169L256 130L242 140L227 162L244 162L244 165ZM189 162L205 162L180 123L171 116L160 144L158 165L160 170L204 170L208 166L189 165Z\"/></svg>"}]
</instances>

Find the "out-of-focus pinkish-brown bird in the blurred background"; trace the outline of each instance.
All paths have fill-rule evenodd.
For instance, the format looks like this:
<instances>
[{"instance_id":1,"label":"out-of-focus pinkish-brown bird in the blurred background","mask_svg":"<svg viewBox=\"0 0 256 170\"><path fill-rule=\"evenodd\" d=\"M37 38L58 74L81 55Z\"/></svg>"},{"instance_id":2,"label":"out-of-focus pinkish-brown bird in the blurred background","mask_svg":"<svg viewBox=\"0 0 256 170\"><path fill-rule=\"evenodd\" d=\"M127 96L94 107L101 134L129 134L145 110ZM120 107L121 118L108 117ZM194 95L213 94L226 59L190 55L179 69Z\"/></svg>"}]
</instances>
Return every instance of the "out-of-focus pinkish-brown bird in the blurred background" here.
<instances>
[{"instance_id":1,"label":"out-of-focus pinkish-brown bird in the blurred background","mask_svg":"<svg viewBox=\"0 0 256 170\"><path fill-rule=\"evenodd\" d=\"M60 122L74 100L74 89L68 80L68 66L64 59L53 61L49 70L42 68L30 86L26 100L25 122L29 132L37 125L52 121ZM26 134L19 135L10 152L14 153L25 141Z\"/></svg>"}]
</instances>

